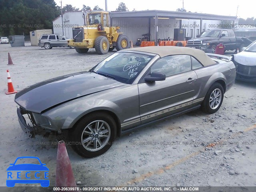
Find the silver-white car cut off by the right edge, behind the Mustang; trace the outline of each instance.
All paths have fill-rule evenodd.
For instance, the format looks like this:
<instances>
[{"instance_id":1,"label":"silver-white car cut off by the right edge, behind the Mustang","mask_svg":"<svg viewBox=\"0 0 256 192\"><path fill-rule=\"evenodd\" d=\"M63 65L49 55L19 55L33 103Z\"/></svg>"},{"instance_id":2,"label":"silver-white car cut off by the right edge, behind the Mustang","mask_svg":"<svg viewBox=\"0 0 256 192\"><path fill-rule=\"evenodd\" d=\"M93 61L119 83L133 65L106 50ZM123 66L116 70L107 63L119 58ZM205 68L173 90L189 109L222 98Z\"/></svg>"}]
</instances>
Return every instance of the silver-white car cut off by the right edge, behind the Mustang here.
<instances>
[{"instance_id":1,"label":"silver-white car cut off by the right edge, behind the Mustang","mask_svg":"<svg viewBox=\"0 0 256 192\"><path fill-rule=\"evenodd\" d=\"M236 66L236 79L256 81L256 41L232 55L232 61Z\"/></svg>"}]
</instances>

